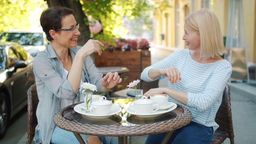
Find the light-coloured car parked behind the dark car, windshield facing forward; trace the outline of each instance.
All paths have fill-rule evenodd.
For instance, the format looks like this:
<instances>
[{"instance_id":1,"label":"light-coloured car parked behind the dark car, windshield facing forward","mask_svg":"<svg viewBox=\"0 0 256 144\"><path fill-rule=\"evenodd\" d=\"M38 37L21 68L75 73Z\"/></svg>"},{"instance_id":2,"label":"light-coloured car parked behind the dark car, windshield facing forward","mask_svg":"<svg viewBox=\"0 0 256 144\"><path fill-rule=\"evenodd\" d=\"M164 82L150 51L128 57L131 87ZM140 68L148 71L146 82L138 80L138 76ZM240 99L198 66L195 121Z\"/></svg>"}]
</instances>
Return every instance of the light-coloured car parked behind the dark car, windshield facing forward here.
<instances>
[{"instance_id":1,"label":"light-coloured car parked behind the dark car, windshield facing forward","mask_svg":"<svg viewBox=\"0 0 256 144\"><path fill-rule=\"evenodd\" d=\"M0 35L0 42L17 42L35 57L48 45L44 32L7 31Z\"/></svg>"}]
</instances>

